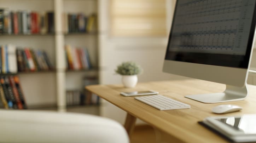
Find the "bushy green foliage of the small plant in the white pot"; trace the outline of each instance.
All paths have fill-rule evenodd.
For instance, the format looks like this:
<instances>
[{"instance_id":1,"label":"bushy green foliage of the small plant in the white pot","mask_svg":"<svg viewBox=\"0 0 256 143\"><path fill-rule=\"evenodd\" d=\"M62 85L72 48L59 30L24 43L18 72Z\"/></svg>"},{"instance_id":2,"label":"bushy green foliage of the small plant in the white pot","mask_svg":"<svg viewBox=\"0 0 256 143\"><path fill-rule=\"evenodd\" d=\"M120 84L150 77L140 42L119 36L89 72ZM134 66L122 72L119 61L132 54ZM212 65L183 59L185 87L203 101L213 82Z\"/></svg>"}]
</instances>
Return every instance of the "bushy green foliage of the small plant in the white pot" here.
<instances>
[{"instance_id":1,"label":"bushy green foliage of the small plant in the white pot","mask_svg":"<svg viewBox=\"0 0 256 143\"><path fill-rule=\"evenodd\" d=\"M117 66L116 73L121 75L136 75L142 72L142 69L133 61L126 61Z\"/></svg>"}]
</instances>

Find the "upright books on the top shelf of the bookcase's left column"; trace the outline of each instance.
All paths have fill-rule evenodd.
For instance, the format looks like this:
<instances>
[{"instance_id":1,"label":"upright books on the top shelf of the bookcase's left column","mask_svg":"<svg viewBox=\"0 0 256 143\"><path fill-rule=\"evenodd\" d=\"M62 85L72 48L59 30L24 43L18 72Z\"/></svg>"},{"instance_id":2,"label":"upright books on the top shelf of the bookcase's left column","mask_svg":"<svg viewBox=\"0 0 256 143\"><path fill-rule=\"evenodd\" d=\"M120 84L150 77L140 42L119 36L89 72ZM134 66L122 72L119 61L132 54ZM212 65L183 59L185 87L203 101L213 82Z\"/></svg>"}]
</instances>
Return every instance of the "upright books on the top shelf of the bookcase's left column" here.
<instances>
[{"instance_id":1,"label":"upright books on the top shelf of the bookcase's left column","mask_svg":"<svg viewBox=\"0 0 256 143\"><path fill-rule=\"evenodd\" d=\"M0 9L0 34L46 34L54 32L53 12Z\"/></svg>"}]
</instances>

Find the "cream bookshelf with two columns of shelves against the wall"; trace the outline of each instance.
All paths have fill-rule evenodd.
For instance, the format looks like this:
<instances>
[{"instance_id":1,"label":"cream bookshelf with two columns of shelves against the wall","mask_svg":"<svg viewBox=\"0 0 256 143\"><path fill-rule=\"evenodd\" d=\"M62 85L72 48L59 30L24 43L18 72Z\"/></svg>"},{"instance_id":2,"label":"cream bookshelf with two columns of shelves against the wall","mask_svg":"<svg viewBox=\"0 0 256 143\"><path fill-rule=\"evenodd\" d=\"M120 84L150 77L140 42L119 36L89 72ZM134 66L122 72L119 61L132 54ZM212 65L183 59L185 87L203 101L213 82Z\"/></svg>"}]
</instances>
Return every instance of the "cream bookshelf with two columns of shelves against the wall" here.
<instances>
[{"instance_id":1,"label":"cream bookshelf with two columns of shelves against the wall","mask_svg":"<svg viewBox=\"0 0 256 143\"><path fill-rule=\"evenodd\" d=\"M20 77L28 108L43 109L45 107L58 111L72 111L80 108L80 106L66 105L66 90L82 89L82 79L84 77L98 77L98 32L97 29L90 32L64 32L63 13L83 13L85 15L95 13L97 15L97 0L0 0L0 3L0 8L10 11L54 13L54 32L45 34L0 34L0 45L13 44L46 51L54 66L54 69L48 71L17 73ZM92 68L66 70L64 48L66 44L86 47ZM87 108L88 106L84 107ZM98 109L98 106L93 105L90 108ZM97 109L95 111L98 111Z\"/></svg>"}]
</instances>

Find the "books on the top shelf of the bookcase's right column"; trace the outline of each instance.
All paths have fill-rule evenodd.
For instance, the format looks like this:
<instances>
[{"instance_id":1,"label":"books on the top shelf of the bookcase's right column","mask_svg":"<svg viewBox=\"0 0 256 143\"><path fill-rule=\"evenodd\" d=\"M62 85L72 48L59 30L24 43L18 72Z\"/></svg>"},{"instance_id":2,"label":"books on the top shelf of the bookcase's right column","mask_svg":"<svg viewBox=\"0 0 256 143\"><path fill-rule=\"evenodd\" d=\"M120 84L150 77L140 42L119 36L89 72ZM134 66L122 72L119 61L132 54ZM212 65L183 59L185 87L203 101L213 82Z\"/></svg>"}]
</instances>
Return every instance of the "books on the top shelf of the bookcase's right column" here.
<instances>
[{"instance_id":1,"label":"books on the top shelf of the bookcase's right column","mask_svg":"<svg viewBox=\"0 0 256 143\"><path fill-rule=\"evenodd\" d=\"M64 33L93 32L96 29L96 15L85 16L83 13L64 13Z\"/></svg>"}]
</instances>

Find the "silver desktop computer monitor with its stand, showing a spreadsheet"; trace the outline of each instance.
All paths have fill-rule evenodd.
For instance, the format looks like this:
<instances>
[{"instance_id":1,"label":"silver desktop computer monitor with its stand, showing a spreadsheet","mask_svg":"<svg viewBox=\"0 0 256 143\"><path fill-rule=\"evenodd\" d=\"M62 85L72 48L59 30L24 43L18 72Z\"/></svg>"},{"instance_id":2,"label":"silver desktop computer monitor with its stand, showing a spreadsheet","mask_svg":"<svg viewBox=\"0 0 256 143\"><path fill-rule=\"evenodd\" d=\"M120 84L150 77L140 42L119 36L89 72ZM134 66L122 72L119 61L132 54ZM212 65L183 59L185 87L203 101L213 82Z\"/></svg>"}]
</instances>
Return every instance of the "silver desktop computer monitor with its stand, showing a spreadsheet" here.
<instances>
[{"instance_id":1,"label":"silver desktop computer monitor with its stand, showing a spreadsheet","mask_svg":"<svg viewBox=\"0 0 256 143\"><path fill-rule=\"evenodd\" d=\"M243 100L247 96L255 3L255 0L176 1L163 72L226 84L223 93L185 97L218 103Z\"/></svg>"}]
</instances>

